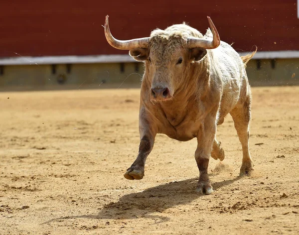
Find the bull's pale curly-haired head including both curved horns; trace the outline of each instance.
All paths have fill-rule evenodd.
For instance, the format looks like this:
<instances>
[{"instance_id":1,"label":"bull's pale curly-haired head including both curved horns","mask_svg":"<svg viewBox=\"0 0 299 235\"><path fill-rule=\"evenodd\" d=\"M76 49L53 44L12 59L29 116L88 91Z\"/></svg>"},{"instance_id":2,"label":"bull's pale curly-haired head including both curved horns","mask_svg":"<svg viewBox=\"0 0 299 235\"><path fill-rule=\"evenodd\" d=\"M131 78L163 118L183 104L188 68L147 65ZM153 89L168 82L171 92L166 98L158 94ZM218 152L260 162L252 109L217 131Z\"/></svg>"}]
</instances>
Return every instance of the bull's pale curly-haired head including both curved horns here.
<instances>
[{"instance_id":1,"label":"bull's pale curly-haired head including both curved horns","mask_svg":"<svg viewBox=\"0 0 299 235\"><path fill-rule=\"evenodd\" d=\"M166 101L173 97L183 78L189 73L189 66L201 60L207 53L220 45L220 37L215 25L208 17L213 38L201 38L195 29L181 24L167 30L154 30L150 37L132 40L118 40L110 32L108 15L105 21L105 36L108 43L120 50L130 50L137 61L145 61L145 77L150 80L151 100ZM186 34L184 27L189 32ZM192 37L193 36L193 37Z\"/></svg>"}]
</instances>

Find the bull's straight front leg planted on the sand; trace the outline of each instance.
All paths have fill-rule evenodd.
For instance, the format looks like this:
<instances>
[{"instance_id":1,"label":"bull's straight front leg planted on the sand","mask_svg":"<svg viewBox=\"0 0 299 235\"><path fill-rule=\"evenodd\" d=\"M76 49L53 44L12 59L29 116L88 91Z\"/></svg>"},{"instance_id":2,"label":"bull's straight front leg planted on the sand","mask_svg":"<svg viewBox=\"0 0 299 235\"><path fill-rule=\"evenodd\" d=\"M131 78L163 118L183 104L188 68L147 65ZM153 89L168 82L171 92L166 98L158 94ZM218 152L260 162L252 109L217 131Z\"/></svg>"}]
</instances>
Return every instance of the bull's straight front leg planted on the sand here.
<instances>
[{"instance_id":1,"label":"bull's straight front leg planted on the sand","mask_svg":"<svg viewBox=\"0 0 299 235\"><path fill-rule=\"evenodd\" d=\"M201 194L211 194L213 187L208 176L208 165L213 141L216 134L216 117L206 117L197 135L195 160L199 169L199 180L196 191Z\"/></svg>"}]
</instances>

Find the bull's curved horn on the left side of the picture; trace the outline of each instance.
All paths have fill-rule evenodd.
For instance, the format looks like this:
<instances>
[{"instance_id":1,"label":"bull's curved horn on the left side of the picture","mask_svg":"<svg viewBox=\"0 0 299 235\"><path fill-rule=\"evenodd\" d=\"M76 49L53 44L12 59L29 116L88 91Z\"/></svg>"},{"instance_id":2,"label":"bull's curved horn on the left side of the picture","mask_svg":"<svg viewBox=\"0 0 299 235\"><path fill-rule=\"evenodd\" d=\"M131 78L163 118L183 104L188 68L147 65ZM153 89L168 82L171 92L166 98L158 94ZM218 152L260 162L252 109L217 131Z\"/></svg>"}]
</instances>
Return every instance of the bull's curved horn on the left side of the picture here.
<instances>
[{"instance_id":1,"label":"bull's curved horn on the left side of the picture","mask_svg":"<svg viewBox=\"0 0 299 235\"><path fill-rule=\"evenodd\" d=\"M108 18L109 15L106 15L104 29L105 29L106 39L112 47L120 50L131 50L134 48L148 48L149 37L136 38L136 39L124 40L124 41L114 38L110 32Z\"/></svg>"}]
</instances>

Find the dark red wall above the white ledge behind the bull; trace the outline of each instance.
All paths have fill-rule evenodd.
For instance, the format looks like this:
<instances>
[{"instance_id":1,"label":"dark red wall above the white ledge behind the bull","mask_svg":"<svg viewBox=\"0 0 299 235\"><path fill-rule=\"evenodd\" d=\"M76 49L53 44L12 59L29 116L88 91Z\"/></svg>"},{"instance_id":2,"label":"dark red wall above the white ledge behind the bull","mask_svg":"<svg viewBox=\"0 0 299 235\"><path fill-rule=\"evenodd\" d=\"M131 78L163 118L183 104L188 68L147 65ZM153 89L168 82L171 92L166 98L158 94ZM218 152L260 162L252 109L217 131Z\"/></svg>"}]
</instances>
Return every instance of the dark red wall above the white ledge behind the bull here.
<instances>
[{"instance_id":1,"label":"dark red wall above the white ledge behind the bull","mask_svg":"<svg viewBox=\"0 0 299 235\"><path fill-rule=\"evenodd\" d=\"M0 57L124 54L105 39L105 15L119 39L186 21L205 32L206 16L237 51L299 50L296 0L1 0Z\"/></svg>"}]
</instances>

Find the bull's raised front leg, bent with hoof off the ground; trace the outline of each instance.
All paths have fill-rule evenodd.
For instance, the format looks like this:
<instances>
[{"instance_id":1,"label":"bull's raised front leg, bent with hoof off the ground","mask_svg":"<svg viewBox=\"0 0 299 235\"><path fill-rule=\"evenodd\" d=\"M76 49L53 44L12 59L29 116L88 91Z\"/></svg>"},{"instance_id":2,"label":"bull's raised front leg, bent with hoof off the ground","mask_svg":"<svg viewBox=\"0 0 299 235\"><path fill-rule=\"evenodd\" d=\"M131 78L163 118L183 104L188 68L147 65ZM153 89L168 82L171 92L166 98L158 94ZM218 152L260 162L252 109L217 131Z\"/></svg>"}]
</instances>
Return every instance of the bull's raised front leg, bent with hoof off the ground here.
<instances>
[{"instance_id":1,"label":"bull's raised front leg, bent with hoof off the ground","mask_svg":"<svg viewBox=\"0 0 299 235\"><path fill-rule=\"evenodd\" d=\"M140 145L139 153L134 163L127 169L124 174L128 180L141 180L145 175L145 164L149 153L152 150L156 131L152 122L145 120L143 117L139 123Z\"/></svg>"}]
</instances>

